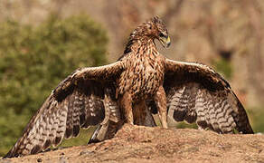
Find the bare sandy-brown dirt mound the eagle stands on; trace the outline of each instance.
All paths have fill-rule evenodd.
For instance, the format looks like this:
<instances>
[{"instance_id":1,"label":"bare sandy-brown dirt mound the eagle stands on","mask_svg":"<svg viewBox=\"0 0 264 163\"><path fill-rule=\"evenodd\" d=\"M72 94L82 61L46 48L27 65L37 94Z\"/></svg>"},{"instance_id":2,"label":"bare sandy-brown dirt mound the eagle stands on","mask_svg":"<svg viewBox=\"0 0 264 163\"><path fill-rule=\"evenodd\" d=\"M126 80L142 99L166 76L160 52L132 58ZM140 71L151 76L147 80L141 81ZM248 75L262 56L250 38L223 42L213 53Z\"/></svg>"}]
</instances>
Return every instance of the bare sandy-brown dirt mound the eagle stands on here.
<instances>
[{"instance_id":1,"label":"bare sandy-brown dirt mound the eagle stands on","mask_svg":"<svg viewBox=\"0 0 264 163\"><path fill-rule=\"evenodd\" d=\"M197 129L125 125L113 139L57 149L15 162L263 162L264 135L220 135Z\"/></svg>"}]
</instances>

